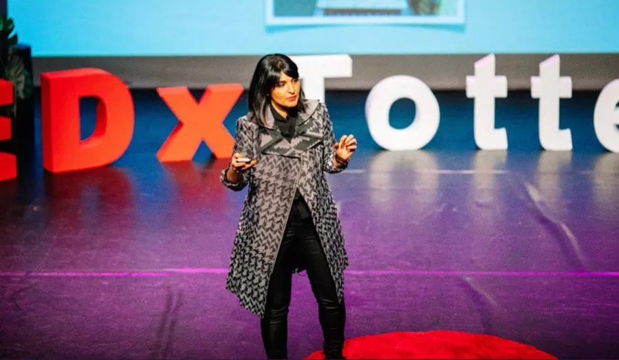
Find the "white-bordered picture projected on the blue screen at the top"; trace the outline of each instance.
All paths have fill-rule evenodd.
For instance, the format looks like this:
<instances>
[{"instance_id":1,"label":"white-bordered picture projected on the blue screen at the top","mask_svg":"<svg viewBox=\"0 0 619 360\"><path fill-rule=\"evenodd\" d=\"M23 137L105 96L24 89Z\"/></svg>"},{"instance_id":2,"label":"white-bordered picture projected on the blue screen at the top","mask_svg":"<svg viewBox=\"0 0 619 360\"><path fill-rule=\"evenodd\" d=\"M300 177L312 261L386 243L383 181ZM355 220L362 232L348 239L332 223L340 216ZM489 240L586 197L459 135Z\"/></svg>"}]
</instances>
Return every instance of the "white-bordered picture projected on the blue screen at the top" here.
<instances>
[{"instance_id":1,"label":"white-bordered picture projected on the blue screen at the top","mask_svg":"<svg viewBox=\"0 0 619 360\"><path fill-rule=\"evenodd\" d=\"M464 0L265 1L267 25L464 23Z\"/></svg>"}]
</instances>

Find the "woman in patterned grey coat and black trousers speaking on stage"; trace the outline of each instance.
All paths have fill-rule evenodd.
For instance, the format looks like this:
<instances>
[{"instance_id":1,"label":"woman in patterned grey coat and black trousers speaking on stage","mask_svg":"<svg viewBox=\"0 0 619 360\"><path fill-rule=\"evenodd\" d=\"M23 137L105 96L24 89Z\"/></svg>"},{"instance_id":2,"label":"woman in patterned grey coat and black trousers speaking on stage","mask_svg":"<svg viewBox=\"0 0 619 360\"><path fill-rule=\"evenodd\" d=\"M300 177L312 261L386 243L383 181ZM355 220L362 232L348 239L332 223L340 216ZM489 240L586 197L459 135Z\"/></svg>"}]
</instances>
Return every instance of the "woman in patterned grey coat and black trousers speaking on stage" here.
<instances>
[{"instance_id":1,"label":"woman in patterned grey coat and black trousers speaking on stage","mask_svg":"<svg viewBox=\"0 0 619 360\"><path fill-rule=\"evenodd\" d=\"M305 99L296 65L282 54L259 60L249 108L237 120L232 160L220 178L232 190L248 185L226 288L261 317L267 356L283 359L292 273L307 270L325 357L341 359L348 258L324 172L348 166L356 139L335 142L325 104Z\"/></svg>"}]
</instances>

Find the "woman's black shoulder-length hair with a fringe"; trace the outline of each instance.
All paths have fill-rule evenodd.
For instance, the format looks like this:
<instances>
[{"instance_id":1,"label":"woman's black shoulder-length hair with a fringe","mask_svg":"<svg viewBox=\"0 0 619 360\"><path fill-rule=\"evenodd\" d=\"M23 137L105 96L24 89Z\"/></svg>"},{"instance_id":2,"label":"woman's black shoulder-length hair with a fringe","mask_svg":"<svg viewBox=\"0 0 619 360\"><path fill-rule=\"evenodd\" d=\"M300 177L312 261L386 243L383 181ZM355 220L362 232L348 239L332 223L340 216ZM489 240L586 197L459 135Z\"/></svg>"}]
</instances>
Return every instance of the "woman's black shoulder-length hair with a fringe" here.
<instances>
[{"instance_id":1,"label":"woman's black shoulder-length hair with a fringe","mask_svg":"<svg viewBox=\"0 0 619 360\"><path fill-rule=\"evenodd\" d=\"M264 113L271 103L271 91L279 82L279 76L284 74L298 79L298 67L294 61L283 54L268 54L263 56L256 65L249 91L250 116L256 118L260 124L265 124ZM299 91L296 111L305 109L305 94Z\"/></svg>"}]
</instances>

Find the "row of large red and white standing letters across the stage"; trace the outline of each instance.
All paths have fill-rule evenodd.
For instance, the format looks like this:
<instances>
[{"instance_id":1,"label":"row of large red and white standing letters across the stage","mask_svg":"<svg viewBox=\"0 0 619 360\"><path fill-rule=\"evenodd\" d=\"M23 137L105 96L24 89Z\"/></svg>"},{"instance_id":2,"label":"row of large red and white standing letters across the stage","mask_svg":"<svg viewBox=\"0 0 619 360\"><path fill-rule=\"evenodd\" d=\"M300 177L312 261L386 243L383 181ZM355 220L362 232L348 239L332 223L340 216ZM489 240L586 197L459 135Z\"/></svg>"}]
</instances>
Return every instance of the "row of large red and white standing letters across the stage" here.
<instances>
[{"instance_id":1,"label":"row of large red and white standing letters across the stage","mask_svg":"<svg viewBox=\"0 0 619 360\"><path fill-rule=\"evenodd\" d=\"M325 78L352 76L347 55L294 56L307 98L324 101ZM572 97L572 79L560 74L560 57L540 63L531 78L531 96L539 99L539 140L546 150L572 150L569 128L559 128L559 102ZM466 96L475 99L475 144L482 150L506 150L505 128L495 128L495 99L507 96L508 79L495 74L495 56L475 63L474 75L466 77ZM155 157L161 161L190 161L204 142L218 158L230 157L232 135L223 122L239 100L240 84L209 85L196 101L186 87L160 87L162 100L178 123ZM80 139L80 98L96 98L94 133ZM406 128L389 124L393 102L415 102L415 119ZM12 104L12 83L0 80L0 106ZM619 79L600 91L592 121L602 146L619 153ZM135 114L133 98L120 78L101 69L72 69L41 74L43 167L54 173L107 166L129 147ZM439 104L432 90L413 76L390 76L369 92L365 104L369 132L387 150L417 150L434 137L440 121ZM11 123L0 117L0 140L10 139ZM0 153L0 180L17 177L14 155Z\"/></svg>"}]
</instances>

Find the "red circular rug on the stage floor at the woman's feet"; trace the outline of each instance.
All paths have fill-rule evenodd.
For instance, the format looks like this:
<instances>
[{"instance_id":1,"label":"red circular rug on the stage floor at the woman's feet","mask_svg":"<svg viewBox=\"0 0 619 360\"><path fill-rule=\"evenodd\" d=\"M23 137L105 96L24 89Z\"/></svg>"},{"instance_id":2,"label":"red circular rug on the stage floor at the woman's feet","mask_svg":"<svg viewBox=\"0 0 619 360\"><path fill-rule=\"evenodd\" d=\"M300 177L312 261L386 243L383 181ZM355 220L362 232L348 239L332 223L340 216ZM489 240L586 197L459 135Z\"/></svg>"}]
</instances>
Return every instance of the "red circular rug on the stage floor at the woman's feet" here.
<instances>
[{"instance_id":1,"label":"red circular rug on the stage floor at the woman's feet","mask_svg":"<svg viewBox=\"0 0 619 360\"><path fill-rule=\"evenodd\" d=\"M532 346L491 335L428 331L387 333L348 339L347 359L556 359ZM325 359L322 350L305 359Z\"/></svg>"}]
</instances>

